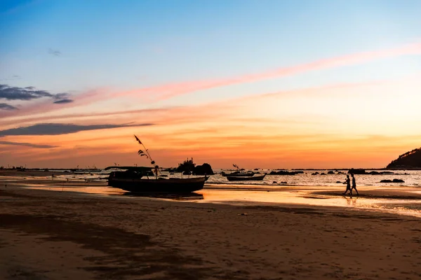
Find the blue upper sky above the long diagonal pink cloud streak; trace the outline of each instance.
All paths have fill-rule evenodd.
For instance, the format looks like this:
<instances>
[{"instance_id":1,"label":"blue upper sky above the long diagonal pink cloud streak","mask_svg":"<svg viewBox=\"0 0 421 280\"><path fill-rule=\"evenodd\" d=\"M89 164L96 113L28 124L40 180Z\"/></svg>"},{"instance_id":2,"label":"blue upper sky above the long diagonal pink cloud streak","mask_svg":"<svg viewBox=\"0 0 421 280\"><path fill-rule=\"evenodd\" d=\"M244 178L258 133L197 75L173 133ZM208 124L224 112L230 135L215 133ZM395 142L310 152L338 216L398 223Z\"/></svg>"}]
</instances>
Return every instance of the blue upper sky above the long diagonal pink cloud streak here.
<instances>
[{"instance_id":1,"label":"blue upper sky above the long diagonal pink cloud streak","mask_svg":"<svg viewBox=\"0 0 421 280\"><path fill-rule=\"evenodd\" d=\"M421 26L419 1L21 2L1 7L1 78L58 92L276 69L413 43Z\"/></svg>"}]
</instances>

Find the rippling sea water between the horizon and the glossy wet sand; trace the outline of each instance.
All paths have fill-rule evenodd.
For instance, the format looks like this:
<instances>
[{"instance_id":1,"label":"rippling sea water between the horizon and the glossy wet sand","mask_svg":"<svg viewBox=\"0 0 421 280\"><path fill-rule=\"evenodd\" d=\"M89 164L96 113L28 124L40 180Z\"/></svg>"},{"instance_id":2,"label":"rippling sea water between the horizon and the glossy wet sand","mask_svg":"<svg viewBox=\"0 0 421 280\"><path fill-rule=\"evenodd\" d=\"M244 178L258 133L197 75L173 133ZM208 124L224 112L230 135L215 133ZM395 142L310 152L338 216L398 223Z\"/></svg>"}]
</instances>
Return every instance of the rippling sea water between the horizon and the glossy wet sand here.
<instances>
[{"instance_id":1,"label":"rippling sea water between the horizon and the glossy wet sand","mask_svg":"<svg viewBox=\"0 0 421 280\"><path fill-rule=\"evenodd\" d=\"M210 176L207 183L212 184L232 184L232 185L255 185L255 186L342 186L342 182L346 179L346 170L341 170L344 174L328 174L329 170L304 170L303 174L295 175L267 175L263 181L235 181L230 182L225 176L222 176L220 172L230 173L232 171L215 169L216 173L213 176ZM384 172L385 170L369 170L376 172ZM262 169L255 172L260 174L271 172L271 170ZM317 175L312 175L318 172ZM385 175L355 175L357 186L410 186L410 187L421 187L421 170L394 170L394 174L385 174ZM100 172L88 172L86 174L63 174L58 177L62 177L69 180L93 180L93 181L107 181L107 174L109 171L100 171ZM324 173L326 175L320 175ZM175 176L180 178L181 174L176 173L173 175L168 174L168 172L163 172L163 174L168 176ZM187 178L188 176L182 176ZM380 183L382 180L393 180L401 179L404 183ZM337 183L341 182L341 183Z\"/></svg>"}]
</instances>

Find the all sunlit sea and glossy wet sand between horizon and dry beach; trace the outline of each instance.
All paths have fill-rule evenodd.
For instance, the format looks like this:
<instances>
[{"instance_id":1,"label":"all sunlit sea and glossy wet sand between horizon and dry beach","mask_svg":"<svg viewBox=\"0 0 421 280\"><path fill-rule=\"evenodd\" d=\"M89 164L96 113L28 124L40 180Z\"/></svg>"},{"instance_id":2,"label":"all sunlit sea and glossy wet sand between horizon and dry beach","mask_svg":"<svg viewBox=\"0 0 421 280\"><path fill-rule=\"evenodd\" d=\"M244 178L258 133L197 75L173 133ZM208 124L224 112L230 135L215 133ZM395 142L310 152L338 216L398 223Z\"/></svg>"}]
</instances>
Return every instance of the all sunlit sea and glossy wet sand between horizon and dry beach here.
<instances>
[{"instance_id":1,"label":"all sunlit sea and glossy wet sand between horizon and dry beach","mask_svg":"<svg viewBox=\"0 0 421 280\"><path fill-rule=\"evenodd\" d=\"M393 174L356 174L356 186L360 195L342 195L345 191L347 170L302 170L295 175L267 175L262 181L228 181L221 172L232 170L214 169L203 190L187 195L179 194L133 194L107 186L110 170L70 173L65 170L57 176L27 179L26 188L69 191L84 195L106 195L121 199L174 200L232 205L307 205L316 207L347 207L366 211L381 211L421 218L421 170L394 170ZM253 170L259 174L272 170ZM328 172L330 171L330 174ZM368 170L368 172L385 170ZM331 174L333 173L333 174ZM168 177L192 178L180 173ZM48 183L46 182L48 179ZM400 179L403 183L380 183L382 180ZM11 179L12 181L14 179ZM18 180L18 179L16 179ZM37 182L39 180L39 183ZM43 181L44 180L44 181ZM31 183L29 183L29 181ZM44 183L41 183L44 182ZM12 182L11 182L12 183ZM25 184L24 184L25 185Z\"/></svg>"}]
</instances>

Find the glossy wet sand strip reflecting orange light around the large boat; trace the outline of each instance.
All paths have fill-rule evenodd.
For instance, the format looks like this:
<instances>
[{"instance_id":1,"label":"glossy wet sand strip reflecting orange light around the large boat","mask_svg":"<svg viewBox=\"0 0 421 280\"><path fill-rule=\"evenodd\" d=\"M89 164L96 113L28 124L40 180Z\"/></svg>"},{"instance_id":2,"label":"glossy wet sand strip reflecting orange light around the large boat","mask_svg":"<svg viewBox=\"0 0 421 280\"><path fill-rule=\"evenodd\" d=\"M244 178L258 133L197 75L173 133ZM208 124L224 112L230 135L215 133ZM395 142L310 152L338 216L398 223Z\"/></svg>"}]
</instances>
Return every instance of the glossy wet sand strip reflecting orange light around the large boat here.
<instances>
[{"instance_id":1,"label":"glossy wet sand strip reflecting orange light around the large boat","mask_svg":"<svg viewBox=\"0 0 421 280\"><path fill-rule=\"evenodd\" d=\"M8 182L9 183L9 182ZM206 184L203 190L189 194L127 193L106 183L60 182L51 180L21 180L10 182L27 188L84 193L86 195L112 195L114 197L148 197L159 200L177 200L198 203L236 205L307 204L322 207L352 207L421 216L420 188L361 187L360 195L342 195L342 186L232 186Z\"/></svg>"}]
</instances>

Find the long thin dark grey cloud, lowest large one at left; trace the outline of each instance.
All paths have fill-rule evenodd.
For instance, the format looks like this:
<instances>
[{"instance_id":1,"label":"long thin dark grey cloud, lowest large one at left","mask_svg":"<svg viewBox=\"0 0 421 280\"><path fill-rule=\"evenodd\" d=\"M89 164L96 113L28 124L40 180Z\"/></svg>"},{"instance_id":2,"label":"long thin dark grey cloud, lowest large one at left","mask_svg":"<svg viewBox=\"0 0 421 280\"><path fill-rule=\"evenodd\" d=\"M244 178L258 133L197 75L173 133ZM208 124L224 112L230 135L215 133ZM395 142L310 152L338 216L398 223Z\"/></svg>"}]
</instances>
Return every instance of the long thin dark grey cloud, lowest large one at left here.
<instances>
[{"instance_id":1,"label":"long thin dark grey cloud, lowest large one at left","mask_svg":"<svg viewBox=\"0 0 421 280\"><path fill-rule=\"evenodd\" d=\"M60 135L86 130L105 130L118 127L140 127L150 126L152 123L126 124L126 125L72 125L62 123L41 123L28 127L12 128L10 130L0 130L0 137L9 135Z\"/></svg>"}]
</instances>

